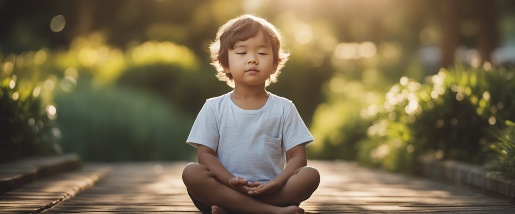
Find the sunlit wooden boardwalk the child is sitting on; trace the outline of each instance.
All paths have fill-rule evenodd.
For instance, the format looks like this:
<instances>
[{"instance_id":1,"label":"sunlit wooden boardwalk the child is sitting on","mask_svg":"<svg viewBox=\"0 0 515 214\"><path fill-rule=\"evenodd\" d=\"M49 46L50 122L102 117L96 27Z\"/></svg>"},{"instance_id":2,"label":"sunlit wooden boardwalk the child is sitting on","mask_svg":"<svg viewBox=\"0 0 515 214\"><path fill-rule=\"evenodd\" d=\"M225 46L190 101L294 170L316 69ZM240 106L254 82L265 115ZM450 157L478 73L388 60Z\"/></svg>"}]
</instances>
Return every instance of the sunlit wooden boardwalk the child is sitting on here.
<instances>
[{"instance_id":1,"label":"sunlit wooden boardwalk the child is sitting on","mask_svg":"<svg viewBox=\"0 0 515 214\"><path fill-rule=\"evenodd\" d=\"M199 213L181 181L185 162L109 165L112 171L93 187L43 213ZM350 162L308 165L318 168L322 179L301 204L308 213L515 213L515 204L467 188Z\"/></svg>"}]
</instances>

